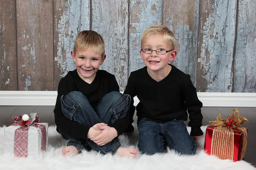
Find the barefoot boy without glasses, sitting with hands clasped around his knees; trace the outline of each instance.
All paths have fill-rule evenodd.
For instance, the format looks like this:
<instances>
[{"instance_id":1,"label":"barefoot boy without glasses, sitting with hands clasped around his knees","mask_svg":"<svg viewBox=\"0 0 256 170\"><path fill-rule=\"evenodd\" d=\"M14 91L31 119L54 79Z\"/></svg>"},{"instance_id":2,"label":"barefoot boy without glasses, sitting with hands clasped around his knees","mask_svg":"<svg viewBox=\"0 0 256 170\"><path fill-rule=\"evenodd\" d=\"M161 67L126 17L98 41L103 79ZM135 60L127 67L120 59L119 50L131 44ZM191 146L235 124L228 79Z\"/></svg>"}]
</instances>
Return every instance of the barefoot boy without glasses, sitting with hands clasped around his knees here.
<instances>
[{"instance_id":1,"label":"barefoot boy without glasses, sitting with hands clasped around his knees","mask_svg":"<svg viewBox=\"0 0 256 170\"><path fill-rule=\"evenodd\" d=\"M103 38L81 31L71 55L76 70L60 80L54 109L57 131L68 140L62 155L93 149L135 158L137 150L120 147L117 137L128 127L131 97L119 92L113 74L99 70L106 58Z\"/></svg>"}]
</instances>

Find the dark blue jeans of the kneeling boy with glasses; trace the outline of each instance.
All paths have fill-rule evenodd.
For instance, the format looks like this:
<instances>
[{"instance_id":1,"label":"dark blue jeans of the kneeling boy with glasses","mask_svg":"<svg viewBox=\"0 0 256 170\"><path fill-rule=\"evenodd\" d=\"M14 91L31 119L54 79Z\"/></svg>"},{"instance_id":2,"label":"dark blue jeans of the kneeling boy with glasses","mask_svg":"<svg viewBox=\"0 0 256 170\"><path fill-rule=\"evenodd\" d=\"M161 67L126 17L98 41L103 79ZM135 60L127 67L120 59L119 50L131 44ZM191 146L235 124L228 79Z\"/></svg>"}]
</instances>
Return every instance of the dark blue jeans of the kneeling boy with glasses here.
<instances>
[{"instance_id":1,"label":"dark blue jeans of the kneeling boy with glasses","mask_svg":"<svg viewBox=\"0 0 256 170\"><path fill-rule=\"evenodd\" d=\"M181 154L193 155L196 151L196 143L189 136L183 120L172 120L165 123L157 123L149 119L138 122L140 152L148 155L163 153L164 148L176 150Z\"/></svg>"}]
</instances>

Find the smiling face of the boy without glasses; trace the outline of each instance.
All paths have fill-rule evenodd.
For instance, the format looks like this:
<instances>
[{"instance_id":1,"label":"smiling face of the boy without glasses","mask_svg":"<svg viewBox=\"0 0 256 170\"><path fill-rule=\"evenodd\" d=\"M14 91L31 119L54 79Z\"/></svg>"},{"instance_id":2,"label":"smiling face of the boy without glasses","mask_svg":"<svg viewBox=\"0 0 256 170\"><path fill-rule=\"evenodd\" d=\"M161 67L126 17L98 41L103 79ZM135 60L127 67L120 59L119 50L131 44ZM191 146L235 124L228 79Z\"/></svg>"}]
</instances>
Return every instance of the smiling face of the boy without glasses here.
<instances>
[{"instance_id":1,"label":"smiling face of the boy without glasses","mask_svg":"<svg viewBox=\"0 0 256 170\"><path fill-rule=\"evenodd\" d=\"M96 72L99 70L99 65L102 65L106 58L106 55L102 56L101 54L90 50L71 51L71 55L76 63L76 70L79 77L88 83L93 82Z\"/></svg>"}]
</instances>

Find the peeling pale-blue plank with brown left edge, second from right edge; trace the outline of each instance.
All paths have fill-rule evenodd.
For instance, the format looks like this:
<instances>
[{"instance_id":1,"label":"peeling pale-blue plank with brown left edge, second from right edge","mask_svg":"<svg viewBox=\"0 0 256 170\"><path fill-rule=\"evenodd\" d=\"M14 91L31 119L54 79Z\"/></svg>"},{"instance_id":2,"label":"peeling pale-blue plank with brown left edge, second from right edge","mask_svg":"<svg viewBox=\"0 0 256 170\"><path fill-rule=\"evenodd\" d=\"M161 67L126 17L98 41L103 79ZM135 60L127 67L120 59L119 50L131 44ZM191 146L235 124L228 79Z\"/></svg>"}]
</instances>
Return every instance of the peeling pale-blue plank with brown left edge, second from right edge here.
<instances>
[{"instance_id":1,"label":"peeling pale-blue plank with brown left edge, second from right edge","mask_svg":"<svg viewBox=\"0 0 256 170\"><path fill-rule=\"evenodd\" d=\"M200 2L197 89L231 92L236 0Z\"/></svg>"}]
</instances>

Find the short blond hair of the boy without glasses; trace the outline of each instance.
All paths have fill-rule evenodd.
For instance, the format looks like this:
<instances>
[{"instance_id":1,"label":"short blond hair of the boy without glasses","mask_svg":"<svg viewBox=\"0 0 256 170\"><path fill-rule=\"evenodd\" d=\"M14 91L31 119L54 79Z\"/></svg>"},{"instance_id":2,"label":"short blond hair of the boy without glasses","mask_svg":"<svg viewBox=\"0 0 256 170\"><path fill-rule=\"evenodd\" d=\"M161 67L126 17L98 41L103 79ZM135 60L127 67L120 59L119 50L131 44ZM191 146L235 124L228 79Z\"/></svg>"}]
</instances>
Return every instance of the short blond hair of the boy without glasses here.
<instances>
[{"instance_id":1,"label":"short blond hair of the boy without glasses","mask_svg":"<svg viewBox=\"0 0 256 170\"><path fill-rule=\"evenodd\" d=\"M93 51L103 56L105 54L105 43L100 34L95 31L81 31L74 44L74 52L77 50Z\"/></svg>"}]
</instances>

